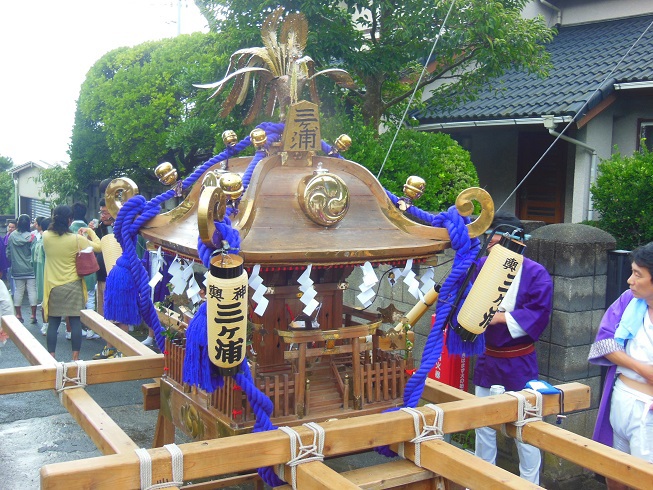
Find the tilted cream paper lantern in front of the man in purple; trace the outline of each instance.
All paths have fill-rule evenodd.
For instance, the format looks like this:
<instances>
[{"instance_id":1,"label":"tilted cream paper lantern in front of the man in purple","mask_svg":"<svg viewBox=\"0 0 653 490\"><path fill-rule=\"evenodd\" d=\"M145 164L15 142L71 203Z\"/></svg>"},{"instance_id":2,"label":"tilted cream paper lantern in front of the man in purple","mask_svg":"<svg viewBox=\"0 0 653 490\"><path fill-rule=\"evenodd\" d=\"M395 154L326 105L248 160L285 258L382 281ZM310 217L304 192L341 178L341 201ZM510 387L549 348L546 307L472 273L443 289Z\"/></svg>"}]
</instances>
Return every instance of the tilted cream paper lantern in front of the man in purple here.
<instances>
[{"instance_id":1,"label":"tilted cream paper lantern in front of the man in purple","mask_svg":"<svg viewBox=\"0 0 653 490\"><path fill-rule=\"evenodd\" d=\"M490 324L499 305L524 261L526 246L509 236L490 249L485 264L474 281L467 299L458 313L456 333L471 342Z\"/></svg>"}]
</instances>

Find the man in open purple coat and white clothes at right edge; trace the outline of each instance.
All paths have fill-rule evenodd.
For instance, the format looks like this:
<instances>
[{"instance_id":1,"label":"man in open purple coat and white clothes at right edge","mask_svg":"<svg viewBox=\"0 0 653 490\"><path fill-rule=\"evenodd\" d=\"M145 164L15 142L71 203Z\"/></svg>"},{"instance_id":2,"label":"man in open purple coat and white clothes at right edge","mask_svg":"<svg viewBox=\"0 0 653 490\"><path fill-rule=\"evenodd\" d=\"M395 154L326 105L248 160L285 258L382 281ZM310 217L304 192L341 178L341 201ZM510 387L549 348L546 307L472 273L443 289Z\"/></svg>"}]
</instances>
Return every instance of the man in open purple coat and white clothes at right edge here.
<instances>
[{"instance_id":1,"label":"man in open purple coat and white clothes at right edge","mask_svg":"<svg viewBox=\"0 0 653 490\"><path fill-rule=\"evenodd\" d=\"M630 258L629 289L603 315L588 356L608 366L593 439L653 463L653 242Z\"/></svg>"}]
</instances>

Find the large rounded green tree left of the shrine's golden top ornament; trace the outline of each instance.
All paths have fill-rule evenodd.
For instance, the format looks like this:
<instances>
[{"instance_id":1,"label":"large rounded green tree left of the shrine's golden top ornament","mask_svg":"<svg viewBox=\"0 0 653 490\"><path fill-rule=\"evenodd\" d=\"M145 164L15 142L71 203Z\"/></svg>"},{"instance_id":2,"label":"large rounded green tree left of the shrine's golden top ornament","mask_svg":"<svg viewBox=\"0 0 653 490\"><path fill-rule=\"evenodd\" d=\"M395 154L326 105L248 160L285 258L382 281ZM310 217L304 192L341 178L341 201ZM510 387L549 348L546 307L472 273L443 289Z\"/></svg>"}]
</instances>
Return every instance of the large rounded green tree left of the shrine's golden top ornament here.
<instances>
[{"instance_id":1,"label":"large rounded green tree left of the shrine's golden top ornament","mask_svg":"<svg viewBox=\"0 0 653 490\"><path fill-rule=\"evenodd\" d=\"M219 101L193 83L218 76L227 58L215 34L196 33L119 48L100 58L82 84L70 147L70 172L85 188L128 176L160 191L162 161L180 175L212 154Z\"/></svg>"}]
</instances>

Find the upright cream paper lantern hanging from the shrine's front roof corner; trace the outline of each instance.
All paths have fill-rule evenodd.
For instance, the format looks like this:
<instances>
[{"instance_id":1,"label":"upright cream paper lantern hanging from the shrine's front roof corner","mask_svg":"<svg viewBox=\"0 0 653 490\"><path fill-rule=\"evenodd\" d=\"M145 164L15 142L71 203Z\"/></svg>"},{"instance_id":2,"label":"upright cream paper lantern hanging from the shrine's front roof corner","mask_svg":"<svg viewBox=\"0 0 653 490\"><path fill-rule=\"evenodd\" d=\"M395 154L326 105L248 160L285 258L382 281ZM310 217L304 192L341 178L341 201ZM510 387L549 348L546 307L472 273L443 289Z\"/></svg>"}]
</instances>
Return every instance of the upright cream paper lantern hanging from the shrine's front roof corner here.
<instances>
[{"instance_id":1,"label":"upright cream paper lantern hanging from the shrine's front roof corner","mask_svg":"<svg viewBox=\"0 0 653 490\"><path fill-rule=\"evenodd\" d=\"M247 272L243 258L211 258L206 279L208 354L223 376L233 376L245 360L247 346Z\"/></svg>"}]
</instances>

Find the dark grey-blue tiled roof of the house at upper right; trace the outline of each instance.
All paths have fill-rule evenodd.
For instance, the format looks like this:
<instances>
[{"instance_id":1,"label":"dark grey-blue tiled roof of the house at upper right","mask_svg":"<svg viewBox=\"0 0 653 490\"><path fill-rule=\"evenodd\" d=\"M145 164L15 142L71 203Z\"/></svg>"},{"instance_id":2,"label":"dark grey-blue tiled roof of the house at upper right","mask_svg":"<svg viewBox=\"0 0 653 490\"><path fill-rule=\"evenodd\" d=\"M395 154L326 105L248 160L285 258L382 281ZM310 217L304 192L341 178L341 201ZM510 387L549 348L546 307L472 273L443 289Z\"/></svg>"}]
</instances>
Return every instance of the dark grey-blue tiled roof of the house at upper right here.
<instances>
[{"instance_id":1,"label":"dark grey-blue tiled roof of the house at upper right","mask_svg":"<svg viewBox=\"0 0 653 490\"><path fill-rule=\"evenodd\" d=\"M612 93L615 83L653 81L653 15L562 26L547 46L553 68L547 78L524 72L510 71L495 87L487 89L478 99L457 108L442 109L428 106L413 115L422 124L472 120L493 120L578 114L588 99L583 113ZM633 43L642 35L637 45ZM619 60L619 66L610 73ZM602 89L594 93L606 79Z\"/></svg>"}]
</instances>

